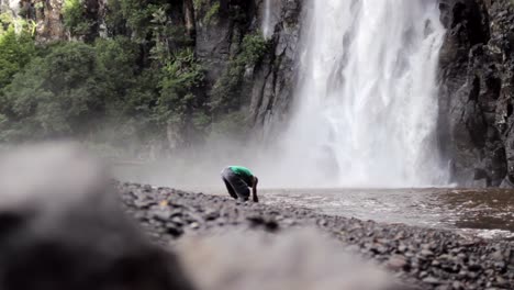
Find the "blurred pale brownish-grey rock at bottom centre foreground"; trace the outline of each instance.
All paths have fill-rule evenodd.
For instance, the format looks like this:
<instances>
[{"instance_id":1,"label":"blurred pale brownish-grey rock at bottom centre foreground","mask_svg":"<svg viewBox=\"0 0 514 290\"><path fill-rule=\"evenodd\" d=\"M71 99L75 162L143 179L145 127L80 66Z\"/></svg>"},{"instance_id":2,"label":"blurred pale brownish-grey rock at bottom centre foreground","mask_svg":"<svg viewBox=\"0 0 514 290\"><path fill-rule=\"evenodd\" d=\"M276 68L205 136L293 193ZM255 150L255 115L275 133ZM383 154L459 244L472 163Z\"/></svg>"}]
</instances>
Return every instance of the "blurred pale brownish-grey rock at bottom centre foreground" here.
<instances>
[{"instance_id":1,"label":"blurred pale brownish-grey rock at bottom centre foreground","mask_svg":"<svg viewBox=\"0 0 514 290\"><path fill-rule=\"evenodd\" d=\"M313 230L188 236L178 253L202 290L407 289Z\"/></svg>"}]
</instances>

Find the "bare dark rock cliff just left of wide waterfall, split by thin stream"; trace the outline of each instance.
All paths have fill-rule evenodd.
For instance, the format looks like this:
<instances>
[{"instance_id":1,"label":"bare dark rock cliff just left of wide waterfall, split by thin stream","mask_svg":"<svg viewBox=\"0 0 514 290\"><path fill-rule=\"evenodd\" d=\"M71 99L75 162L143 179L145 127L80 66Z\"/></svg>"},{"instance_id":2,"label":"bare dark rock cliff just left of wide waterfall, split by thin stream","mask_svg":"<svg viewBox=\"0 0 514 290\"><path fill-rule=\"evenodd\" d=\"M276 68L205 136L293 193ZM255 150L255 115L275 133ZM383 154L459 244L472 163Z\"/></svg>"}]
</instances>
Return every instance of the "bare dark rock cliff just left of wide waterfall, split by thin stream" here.
<instances>
[{"instance_id":1,"label":"bare dark rock cliff just left of wide waterfall, split by thin stream","mask_svg":"<svg viewBox=\"0 0 514 290\"><path fill-rule=\"evenodd\" d=\"M244 8L244 21L230 16L235 2ZM283 121L292 100L302 18L301 0L270 2L273 13L270 19L272 35L267 40L269 47L258 63L245 67L238 91L248 125L259 140L272 135L272 124ZM264 0L221 3L215 23L205 23L205 14L197 11L195 52L208 68L211 87L241 51L243 37L260 31L264 21Z\"/></svg>"}]
</instances>

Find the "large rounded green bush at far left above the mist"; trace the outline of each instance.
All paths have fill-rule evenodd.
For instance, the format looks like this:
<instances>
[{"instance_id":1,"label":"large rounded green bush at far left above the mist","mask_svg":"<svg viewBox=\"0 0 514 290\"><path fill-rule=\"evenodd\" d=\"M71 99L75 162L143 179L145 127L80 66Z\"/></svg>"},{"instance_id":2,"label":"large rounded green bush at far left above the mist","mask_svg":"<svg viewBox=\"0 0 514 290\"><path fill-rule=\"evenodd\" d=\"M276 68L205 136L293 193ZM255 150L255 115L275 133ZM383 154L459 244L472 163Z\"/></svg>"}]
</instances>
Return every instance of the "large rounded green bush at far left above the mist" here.
<instances>
[{"instance_id":1,"label":"large rounded green bush at far left above the mist","mask_svg":"<svg viewBox=\"0 0 514 290\"><path fill-rule=\"evenodd\" d=\"M4 90L7 115L19 132L5 138L43 138L79 132L98 115L101 93L94 49L82 43L56 47L34 58Z\"/></svg>"}]
</instances>

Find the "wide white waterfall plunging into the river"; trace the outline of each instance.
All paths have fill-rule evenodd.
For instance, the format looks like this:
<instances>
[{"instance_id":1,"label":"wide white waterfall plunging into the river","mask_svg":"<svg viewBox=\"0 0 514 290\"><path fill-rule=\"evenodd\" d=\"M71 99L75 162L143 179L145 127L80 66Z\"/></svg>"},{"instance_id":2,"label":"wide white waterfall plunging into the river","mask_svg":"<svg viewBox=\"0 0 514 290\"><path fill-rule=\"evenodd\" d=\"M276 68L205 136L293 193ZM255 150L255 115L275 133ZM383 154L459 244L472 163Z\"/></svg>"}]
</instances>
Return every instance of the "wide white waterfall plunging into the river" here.
<instances>
[{"instance_id":1,"label":"wide white waterfall plunging into the river","mask_svg":"<svg viewBox=\"0 0 514 290\"><path fill-rule=\"evenodd\" d=\"M436 0L312 1L281 171L294 186L445 185Z\"/></svg>"}]
</instances>

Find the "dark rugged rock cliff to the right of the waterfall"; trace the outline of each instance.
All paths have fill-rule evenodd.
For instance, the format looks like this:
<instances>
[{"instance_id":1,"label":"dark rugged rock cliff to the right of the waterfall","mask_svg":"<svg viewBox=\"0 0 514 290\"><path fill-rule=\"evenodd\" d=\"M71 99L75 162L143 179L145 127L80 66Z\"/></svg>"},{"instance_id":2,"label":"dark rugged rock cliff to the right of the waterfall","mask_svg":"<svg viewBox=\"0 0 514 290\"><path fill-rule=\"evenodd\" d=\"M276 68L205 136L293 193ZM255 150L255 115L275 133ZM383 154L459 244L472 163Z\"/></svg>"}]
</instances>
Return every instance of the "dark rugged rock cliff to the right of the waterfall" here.
<instances>
[{"instance_id":1,"label":"dark rugged rock cliff to the right of the waterfall","mask_svg":"<svg viewBox=\"0 0 514 290\"><path fill-rule=\"evenodd\" d=\"M514 7L442 0L440 142L461 186L514 181Z\"/></svg>"}]
</instances>

